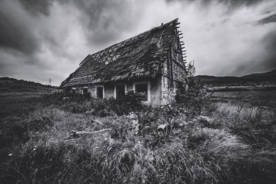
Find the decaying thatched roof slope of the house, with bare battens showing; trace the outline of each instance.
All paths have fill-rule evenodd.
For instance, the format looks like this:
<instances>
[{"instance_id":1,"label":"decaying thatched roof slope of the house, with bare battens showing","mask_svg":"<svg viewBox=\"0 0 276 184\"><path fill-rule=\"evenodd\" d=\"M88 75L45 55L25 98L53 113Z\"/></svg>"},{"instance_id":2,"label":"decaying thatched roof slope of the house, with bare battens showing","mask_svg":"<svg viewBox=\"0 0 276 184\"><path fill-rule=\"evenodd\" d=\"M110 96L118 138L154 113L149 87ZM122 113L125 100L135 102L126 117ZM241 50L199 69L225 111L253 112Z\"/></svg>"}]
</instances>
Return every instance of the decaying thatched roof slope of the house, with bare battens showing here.
<instances>
[{"instance_id":1,"label":"decaying thatched roof slope of the house, with bare battens showing","mask_svg":"<svg viewBox=\"0 0 276 184\"><path fill-rule=\"evenodd\" d=\"M81 61L61 87L106 83L161 74L167 49L176 38L178 19L121 41Z\"/></svg>"}]
</instances>

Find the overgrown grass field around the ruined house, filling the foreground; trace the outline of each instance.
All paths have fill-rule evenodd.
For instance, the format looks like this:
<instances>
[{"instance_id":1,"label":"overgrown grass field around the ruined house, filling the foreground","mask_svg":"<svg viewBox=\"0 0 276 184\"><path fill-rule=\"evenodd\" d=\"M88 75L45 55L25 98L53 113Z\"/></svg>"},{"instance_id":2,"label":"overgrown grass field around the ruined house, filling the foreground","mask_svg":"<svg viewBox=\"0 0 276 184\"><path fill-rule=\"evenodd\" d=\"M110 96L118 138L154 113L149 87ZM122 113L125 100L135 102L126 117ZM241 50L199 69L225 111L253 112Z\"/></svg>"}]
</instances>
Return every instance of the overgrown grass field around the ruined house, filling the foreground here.
<instances>
[{"instance_id":1,"label":"overgrown grass field around the ruined house, filling the foreground","mask_svg":"<svg viewBox=\"0 0 276 184\"><path fill-rule=\"evenodd\" d=\"M173 104L1 94L0 183L275 183L275 94L210 95L217 101L190 115Z\"/></svg>"}]
</instances>

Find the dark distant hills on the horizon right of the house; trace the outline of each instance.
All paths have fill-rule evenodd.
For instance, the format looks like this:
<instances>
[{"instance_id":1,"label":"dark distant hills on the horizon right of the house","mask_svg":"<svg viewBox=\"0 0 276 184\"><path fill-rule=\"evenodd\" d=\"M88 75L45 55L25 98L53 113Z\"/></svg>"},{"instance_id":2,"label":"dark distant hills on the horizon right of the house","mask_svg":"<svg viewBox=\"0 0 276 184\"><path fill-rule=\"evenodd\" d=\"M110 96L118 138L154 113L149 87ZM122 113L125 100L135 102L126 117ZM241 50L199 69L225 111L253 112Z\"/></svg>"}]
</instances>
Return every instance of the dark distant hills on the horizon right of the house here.
<instances>
[{"instance_id":1,"label":"dark distant hills on the horizon right of the house","mask_svg":"<svg viewBox=\"0 0 276 184\"><path fill-rule=\"evenodd\" d=\"M276 69L270 72L248 74L245 76L208 76L198 75L197 79L201 79L204 83L213 86L221 85L261 85L276 82Z\"/></svg>"}]
</instances>

